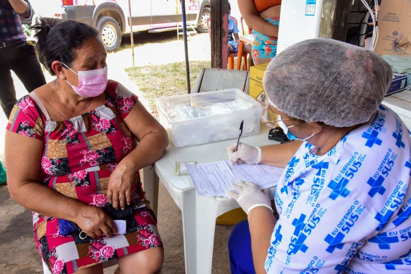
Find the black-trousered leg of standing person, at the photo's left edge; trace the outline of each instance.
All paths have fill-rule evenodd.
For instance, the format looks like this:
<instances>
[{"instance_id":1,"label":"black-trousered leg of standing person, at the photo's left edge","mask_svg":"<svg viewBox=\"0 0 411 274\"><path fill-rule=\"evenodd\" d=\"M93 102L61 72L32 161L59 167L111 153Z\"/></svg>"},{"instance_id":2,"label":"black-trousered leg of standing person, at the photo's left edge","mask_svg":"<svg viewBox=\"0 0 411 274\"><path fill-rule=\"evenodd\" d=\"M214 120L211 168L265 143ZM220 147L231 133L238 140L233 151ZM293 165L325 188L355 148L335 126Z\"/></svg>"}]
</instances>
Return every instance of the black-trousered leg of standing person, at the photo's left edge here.
<instances>
[{"instance_id":1,"label":"black-trousered leg of standing person, at the photo's left edge","mask_svg":"<svg viewBox=\"0 0 411 274\"><path fill-rule=\"evenodd\" d=\"M16 102L16 91L10 73L9 55L10 50L8 48L0 48L0 105L7 119L9 119Z\"/></svg>"}]
</instances>

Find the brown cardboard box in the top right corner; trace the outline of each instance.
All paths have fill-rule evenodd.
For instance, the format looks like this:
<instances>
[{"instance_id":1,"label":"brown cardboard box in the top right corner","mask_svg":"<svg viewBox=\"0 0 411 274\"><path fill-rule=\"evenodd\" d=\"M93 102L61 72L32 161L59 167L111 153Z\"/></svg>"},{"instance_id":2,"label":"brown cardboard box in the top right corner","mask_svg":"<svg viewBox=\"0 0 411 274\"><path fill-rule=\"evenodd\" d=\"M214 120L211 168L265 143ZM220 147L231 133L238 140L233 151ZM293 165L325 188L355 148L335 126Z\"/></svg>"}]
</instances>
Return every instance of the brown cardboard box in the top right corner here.
<instances>
[{"instance_id":1,"label":"brown cardboard box in the top right corner","mask_svg":"<svg viewBox=\"0 0 411 274\"><path fill-rule=\"evenodd\" d=\"M411 56L411 0L384 0L378 13L375 52Z\"/></svg>"}]
</instances>

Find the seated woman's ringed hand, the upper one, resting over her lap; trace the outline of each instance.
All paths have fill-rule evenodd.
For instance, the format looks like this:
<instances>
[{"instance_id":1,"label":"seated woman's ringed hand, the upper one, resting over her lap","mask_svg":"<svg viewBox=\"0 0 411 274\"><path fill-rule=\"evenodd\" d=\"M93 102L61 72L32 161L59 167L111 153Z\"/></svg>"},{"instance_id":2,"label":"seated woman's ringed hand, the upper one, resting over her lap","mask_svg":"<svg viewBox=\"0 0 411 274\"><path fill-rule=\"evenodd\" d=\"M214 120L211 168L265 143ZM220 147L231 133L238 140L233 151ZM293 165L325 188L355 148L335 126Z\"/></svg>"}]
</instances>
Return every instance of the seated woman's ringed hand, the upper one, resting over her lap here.
<instances>
[{"instance_id":1,"label":"seated woman's ringed hand, the upper one, resting over her lap","mask_svg":"<svg viewBox=\"0 0 411 274\"><path fill-rule=\"evenodd\" d=\"M108 179L108 202L116 209L124 209L126 203L129 205L132 202L132 187L135 182L136 172L120 162Z\"/></svg>"}]
</instances>

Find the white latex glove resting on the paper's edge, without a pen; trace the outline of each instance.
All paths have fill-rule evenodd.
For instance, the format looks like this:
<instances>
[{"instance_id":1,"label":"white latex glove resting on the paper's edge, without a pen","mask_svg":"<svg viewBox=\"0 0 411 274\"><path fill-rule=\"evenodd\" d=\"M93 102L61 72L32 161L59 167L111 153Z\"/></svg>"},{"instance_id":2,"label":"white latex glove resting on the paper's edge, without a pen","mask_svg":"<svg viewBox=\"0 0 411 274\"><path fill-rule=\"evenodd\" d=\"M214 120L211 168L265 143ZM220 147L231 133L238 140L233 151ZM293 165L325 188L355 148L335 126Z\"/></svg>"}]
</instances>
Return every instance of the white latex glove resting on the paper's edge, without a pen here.
<instances>
[{"instance_id":1,"label":"white latex glove resting on the paper's edge, without a pen","mask_svg":"<svg viewBox=\"0 0 411 274\"><path fill-rule=\"evenodd\" d=\"M259 190L254 183L237 181L235 184L231 185L231 187L237 191L238 194L234 191L227 190L227 195L236 200L242 210L247 214L251 209L258 206L265 206L273 211L271 208L271 200L268 195Z\"/></svg>"}]
</instances>

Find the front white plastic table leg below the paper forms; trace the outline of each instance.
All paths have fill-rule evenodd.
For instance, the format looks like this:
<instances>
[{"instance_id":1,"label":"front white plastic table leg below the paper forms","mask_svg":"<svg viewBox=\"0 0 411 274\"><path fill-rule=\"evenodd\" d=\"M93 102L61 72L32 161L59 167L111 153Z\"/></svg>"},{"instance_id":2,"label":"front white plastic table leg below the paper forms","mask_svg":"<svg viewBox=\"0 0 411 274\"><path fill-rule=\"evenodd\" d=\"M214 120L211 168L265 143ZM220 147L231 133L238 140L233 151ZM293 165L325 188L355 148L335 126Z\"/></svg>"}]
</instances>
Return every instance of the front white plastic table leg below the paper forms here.
<instances>
[{"instance_id":1,"label":"front white plastic table leg below the paper forms","mask_svg":"<svg viewBox=\"0 0 411 274\"><path fill-rule=\"evenodd\" d=\"M186 274L209 274L213 261L216 203L214 197L198 196L195 190L184 194L183 219Z\"/></svg>"}]
</instances>

